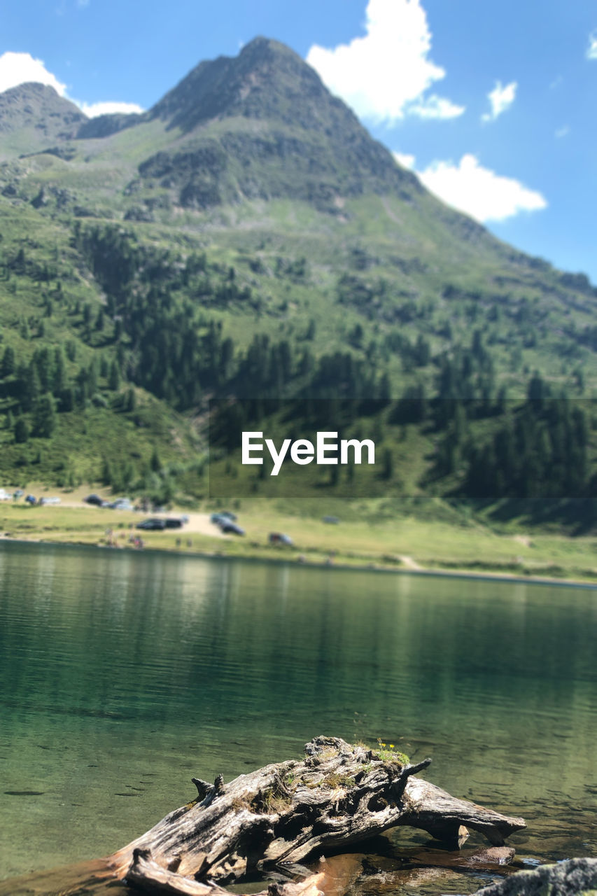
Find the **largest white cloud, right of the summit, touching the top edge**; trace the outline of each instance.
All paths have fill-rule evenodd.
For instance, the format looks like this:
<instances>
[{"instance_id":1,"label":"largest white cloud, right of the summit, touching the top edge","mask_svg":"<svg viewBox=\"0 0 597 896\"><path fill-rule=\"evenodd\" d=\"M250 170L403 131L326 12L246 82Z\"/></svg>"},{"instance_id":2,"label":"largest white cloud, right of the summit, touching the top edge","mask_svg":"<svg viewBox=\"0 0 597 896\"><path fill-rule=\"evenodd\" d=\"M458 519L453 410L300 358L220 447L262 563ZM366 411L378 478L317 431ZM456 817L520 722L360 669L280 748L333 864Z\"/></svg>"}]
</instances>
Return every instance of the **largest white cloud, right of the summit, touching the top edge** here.
<instances>
[{"instance_id":1,"label":"largest white cloud, right of the summit, touching the top edge","mask_svg":"<svg viewBox=\"0 0 597 896\"><path fill-rule=\"evenodd\" d=\"M446 72L428 58L431 32L420 0L368 0L366 17L365 37L333 49L314 44L307 53L330 90L378 122L461 115L464 108L449 99L424 97Z\"/></svg>"}]
</instances>

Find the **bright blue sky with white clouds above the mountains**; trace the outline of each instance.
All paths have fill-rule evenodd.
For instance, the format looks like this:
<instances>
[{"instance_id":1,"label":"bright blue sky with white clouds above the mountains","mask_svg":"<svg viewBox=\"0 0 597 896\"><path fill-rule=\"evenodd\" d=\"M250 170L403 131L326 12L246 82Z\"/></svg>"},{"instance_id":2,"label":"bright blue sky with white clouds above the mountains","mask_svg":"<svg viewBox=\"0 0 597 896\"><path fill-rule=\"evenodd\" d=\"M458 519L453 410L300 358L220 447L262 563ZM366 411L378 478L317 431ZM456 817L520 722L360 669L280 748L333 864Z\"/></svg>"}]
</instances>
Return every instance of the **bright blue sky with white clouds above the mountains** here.
<instances>
[{"instance_id":1,"label":"bright blue sky with white clouds above the mountains","mask_svg":"<svg viewBox=\"0 0 597 896\"><path fill-rule=\"evenodd\" d=\"M263 34L315 65L429 189L597 283L597 4L589 0L4 0L0 90L149 108Z\"/></svg>"}]
</instances>

